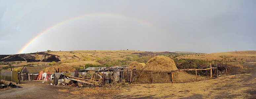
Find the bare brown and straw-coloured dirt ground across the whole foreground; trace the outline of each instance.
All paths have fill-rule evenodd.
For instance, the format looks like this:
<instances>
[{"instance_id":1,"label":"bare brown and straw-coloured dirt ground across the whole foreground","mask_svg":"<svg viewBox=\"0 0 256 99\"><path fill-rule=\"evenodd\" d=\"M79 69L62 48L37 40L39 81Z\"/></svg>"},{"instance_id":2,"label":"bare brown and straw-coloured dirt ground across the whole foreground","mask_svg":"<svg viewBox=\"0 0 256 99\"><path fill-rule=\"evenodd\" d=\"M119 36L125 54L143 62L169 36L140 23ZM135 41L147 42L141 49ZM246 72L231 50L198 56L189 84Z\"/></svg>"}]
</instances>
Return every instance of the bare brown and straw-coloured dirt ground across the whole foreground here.
<instances>
[{"instance_id":1,"label":"bare brown and straw-coloured dirt ground across the whole foreground","mask_svg":"<svg viewBox=\"0 0 256 99\"><path fill-rule=\"evenodd\" d=\"M74 88L26 81L23 88L1 89L0 98L256 98L256 63L242 74L191 83L133 84L130 87Z\"/></svg>"}]
</instances>

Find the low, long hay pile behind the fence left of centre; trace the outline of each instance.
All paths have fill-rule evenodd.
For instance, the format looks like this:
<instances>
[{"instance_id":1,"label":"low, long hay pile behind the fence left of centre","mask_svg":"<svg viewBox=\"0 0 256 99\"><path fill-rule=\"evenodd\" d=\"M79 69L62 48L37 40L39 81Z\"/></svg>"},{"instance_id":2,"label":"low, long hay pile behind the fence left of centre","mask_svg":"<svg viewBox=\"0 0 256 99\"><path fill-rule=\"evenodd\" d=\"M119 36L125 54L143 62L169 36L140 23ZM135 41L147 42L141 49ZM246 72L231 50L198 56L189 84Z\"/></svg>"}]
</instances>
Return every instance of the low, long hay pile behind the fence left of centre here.
<instances>
[{"instance_id":1,"label":"low, long hay pile behind the fence left of centre","mask_svg":"<svg viewBox=\"0 0 256 99\"><path fill-rule=\"evenodd\" d=\"M75 69L71 66L50 66L50 67L44 68L43 71L55 73L56 70L58 71L58 68L59 68L59 72L74 72L75 71Z\"/></svg>"}]
</instances>

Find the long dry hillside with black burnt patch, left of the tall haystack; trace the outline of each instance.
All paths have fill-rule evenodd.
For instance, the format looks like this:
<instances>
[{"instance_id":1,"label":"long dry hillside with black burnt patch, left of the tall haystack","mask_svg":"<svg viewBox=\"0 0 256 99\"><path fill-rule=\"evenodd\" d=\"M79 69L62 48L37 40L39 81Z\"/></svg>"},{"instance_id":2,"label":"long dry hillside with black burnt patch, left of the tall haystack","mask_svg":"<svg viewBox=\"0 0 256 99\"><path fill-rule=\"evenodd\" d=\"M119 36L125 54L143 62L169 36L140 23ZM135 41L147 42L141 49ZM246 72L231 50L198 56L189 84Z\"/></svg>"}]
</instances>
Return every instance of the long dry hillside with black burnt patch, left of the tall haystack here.
<instances>
[{"instance_id":1,"label":"long dry hillside with black burnt patch, left of the tall haystack","mask_svg":"<svg viewBox=\"0 0 256 99\"><path fill-rule=\"evenodd\" d=\"M135 50L73 50L73 51L48 51L29 54L0 55L0 68L8 69L22 67L24 65L49 64L57 66L81 67L85 64L93 65L127 65L140 53L146 51ZM146 52L148 53L148 52ZM150 52L152 55L172 52ZM25 56L25 57L24 57ZM146 62L147 59L141 59ZM29 61L28 61L29 60ZM55 61L55 62L53 62ZM10 68L9 68L10 69Z\"/></svg>"}]
</instances>

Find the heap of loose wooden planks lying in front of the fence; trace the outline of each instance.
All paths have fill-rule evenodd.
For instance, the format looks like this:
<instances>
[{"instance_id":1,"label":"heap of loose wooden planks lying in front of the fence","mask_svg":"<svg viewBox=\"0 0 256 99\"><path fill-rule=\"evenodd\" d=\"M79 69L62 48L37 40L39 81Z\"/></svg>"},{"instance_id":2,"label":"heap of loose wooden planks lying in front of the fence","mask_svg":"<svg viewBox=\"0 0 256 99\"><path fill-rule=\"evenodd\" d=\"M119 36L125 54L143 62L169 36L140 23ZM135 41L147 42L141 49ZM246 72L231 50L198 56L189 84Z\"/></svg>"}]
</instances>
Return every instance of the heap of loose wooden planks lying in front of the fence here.
<instances>
[{"instance_id":1,"label":"heap of loose wooden planks lying in front of the fence","mask_svg":"<svg viewBox=\"0 0 256 99\"><path fill-rule=\"evenodd\" d=\"M73 76L68 76L68 77L69 77L69 80L83 82L83 83L90 84L90 85L98 85L99 84L98 80L91 78L91 77L82 77L82 78L73 77Z\"/></svg>"}]
</instances>

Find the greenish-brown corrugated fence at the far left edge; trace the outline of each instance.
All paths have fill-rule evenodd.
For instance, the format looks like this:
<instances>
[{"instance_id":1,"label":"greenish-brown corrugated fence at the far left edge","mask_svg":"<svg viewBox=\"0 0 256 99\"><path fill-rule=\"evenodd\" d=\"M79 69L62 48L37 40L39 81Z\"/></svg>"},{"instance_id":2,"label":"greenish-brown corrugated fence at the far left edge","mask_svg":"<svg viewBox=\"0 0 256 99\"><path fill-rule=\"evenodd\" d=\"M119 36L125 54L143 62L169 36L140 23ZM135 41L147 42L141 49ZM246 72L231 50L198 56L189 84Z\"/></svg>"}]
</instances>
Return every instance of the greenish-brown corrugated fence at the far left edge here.
<instances>
[{"instance_id":1,"label":"greenish-brown corrugated fence at the far left edge","mask_svg":"<svg viewBox=\"0 0 256 99\"><path fill-rule=\"evenodd\" d=\"M0 79L5 81L18 82L18 72L0 71Z\"/></svg>"}]
</instances>

